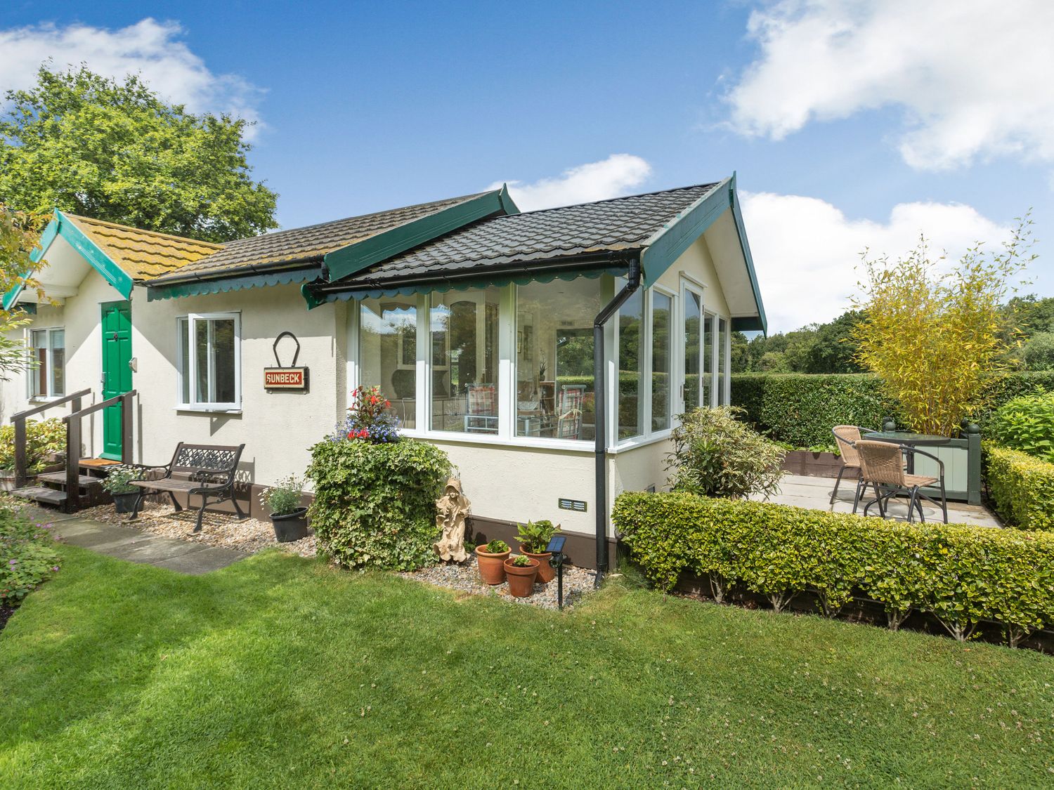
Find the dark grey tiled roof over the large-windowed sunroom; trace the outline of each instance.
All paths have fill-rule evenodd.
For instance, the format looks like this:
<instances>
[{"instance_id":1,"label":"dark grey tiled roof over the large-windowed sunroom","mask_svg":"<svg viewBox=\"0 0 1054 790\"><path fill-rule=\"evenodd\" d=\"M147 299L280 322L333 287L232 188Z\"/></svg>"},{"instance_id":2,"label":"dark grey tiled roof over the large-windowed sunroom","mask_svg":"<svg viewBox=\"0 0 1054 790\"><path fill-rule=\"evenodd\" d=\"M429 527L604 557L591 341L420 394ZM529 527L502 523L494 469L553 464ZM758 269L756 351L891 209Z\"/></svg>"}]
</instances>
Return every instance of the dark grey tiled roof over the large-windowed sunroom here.
<instances>
[{"instance_id":1,"label":"dark grey tiled roof over the large-windowed sunroom","mask_svg":"<svg viewBox=\"0 0 1054 790\"><path fill-rule=\"evenodd\" d=\"M481 219L353 275L346 282L464 272L640 248L717 183Z\"/></svg>"}]
</instances>

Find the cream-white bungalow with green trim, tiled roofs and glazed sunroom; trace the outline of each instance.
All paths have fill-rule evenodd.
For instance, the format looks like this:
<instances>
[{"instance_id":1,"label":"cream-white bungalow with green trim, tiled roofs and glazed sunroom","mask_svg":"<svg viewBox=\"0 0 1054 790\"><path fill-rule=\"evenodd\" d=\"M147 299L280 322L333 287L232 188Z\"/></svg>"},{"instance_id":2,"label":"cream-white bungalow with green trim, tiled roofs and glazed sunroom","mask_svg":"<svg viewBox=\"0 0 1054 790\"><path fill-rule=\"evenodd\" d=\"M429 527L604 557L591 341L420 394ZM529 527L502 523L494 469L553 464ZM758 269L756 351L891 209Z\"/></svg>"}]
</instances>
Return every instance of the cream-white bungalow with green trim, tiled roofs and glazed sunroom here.
<instances>
[{"instance_id":1,"label":"cream-white bungalow with green trim, tiled roofs and glazed sunroom","mask_svg":"<svg viewBox=\"0 0 1054 790\"><path fill-rule=\"evenodd\" d=\"M765 329L735 176L528 213L502 189L227 244L57 211L36 255L55 303L4 298L34 313L39 362L4 382L4 421L134 389L131 436L96 412L83 456L245 443L253 489L302 473L376 384L403 435L448 452L476 533L550 518L587 566L612 556L613 498L664 487L676 415L727 402L730 332Z\"/></svg>"}]
</instances>

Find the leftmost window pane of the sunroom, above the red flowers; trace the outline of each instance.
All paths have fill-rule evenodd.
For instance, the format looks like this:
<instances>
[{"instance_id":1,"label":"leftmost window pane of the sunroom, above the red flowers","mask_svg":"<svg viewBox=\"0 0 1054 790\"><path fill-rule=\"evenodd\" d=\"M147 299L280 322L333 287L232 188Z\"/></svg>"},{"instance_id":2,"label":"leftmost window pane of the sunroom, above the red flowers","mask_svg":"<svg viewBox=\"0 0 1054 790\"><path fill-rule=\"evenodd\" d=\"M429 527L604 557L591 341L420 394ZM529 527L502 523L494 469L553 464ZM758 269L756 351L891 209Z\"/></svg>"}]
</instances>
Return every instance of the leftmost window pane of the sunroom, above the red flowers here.
<instances>
[{"instance_id":1,"label":"leftmost window pane of the sunroom, above the red flowers","mask_svg":"<svg viewBox=\"0 0 1054 790\"><path fill-rule=\"evenodd\" d=\"M359 302L358 382L379 387L403 428L416 424L417 308L415 297Z\"/></svg>"}]
</instances>

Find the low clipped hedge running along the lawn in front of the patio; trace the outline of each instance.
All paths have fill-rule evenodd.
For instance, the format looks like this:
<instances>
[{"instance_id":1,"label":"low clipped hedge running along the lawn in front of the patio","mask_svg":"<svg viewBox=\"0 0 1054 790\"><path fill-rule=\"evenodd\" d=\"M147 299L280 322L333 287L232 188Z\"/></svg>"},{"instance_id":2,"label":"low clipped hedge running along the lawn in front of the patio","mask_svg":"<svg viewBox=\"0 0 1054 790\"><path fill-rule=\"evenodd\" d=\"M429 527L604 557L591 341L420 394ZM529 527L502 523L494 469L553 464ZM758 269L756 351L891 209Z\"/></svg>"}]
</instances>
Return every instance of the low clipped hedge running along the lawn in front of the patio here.
<instances>
[{"instance_id":1,"label":"low clipped hedge running along the lawn in front of the patio","mask_svg":"<svg viewBox=\"0 0 1054 790\"><path fill-rule=\"evenodd\" d=\"M860 591L891 628L913 610L969 638L981 620L1012 645L1054 625L1054 535L943 524L900 524L684 493L624 493L611 518L630 558L670 590L685 571L768 597L780 610L813 592L828 616Z\"/></svg>"}]
</instances>

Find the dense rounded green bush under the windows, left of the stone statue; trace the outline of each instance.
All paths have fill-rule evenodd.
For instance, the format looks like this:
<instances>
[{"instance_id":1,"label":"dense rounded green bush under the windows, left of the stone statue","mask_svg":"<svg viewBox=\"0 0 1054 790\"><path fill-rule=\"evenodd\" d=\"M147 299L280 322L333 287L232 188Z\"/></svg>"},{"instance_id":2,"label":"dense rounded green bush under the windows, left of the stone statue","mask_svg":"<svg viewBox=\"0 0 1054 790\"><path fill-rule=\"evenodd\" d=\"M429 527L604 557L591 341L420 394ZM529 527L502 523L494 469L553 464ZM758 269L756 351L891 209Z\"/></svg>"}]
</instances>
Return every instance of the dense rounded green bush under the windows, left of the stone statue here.
<instances>
[{"instance_id":1,"label":"dense rounded green bush under the windows, left of the stone statue","mask_svg":"<svg viewBox=\"0 0 1054 790\"><path fill-rule=\"evenodd\" d=\"M348 568L406 571L435 559L435 499L447 454L423 441L327 440L311 449L311 526L323 554Z\"/></svg>"}]
</instances>

